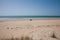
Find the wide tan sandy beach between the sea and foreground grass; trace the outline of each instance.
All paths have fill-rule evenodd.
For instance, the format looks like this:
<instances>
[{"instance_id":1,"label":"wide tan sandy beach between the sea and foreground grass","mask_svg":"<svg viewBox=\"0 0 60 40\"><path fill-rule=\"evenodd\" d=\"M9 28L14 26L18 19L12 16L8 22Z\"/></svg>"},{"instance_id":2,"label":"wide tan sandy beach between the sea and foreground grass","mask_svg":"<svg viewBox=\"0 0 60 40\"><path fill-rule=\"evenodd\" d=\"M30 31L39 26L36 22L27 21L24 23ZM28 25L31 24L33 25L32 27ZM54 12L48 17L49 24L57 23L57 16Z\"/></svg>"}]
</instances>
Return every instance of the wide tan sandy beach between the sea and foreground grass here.
<instances>
[{"instance_id":1,"label":"wide tan sandy beach between the sea and foreground grass","mask_svg":"<svg viewBox=\"0 0 60 40\"><path fill-rule=\"evenodd\" d=\"M36 33L36 34L35 34ZM31 18L31 19L2 19L0 20L0 39L2 38L20 38L22 36L36 38L50 37L55 33L55 40L60 39L60 18ZM38 39L37 39L38 38ZM46 39L48 40L48 39ZM51 39L53 40L53 39Z\"/></svg>"}]
</instances>

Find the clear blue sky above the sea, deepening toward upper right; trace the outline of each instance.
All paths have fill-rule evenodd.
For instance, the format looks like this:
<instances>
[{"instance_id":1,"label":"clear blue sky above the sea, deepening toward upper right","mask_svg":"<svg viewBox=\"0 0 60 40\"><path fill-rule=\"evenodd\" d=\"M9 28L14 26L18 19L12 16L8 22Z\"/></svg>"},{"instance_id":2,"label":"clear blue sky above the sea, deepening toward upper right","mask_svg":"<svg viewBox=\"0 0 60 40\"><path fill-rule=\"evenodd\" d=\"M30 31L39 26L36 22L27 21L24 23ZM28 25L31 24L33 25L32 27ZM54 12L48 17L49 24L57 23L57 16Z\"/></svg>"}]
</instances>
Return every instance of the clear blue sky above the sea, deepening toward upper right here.
<instances>
[{"instance_id":1,"label":"clear blue sky above the sea, deepening toward upper right","mask_svg":"<svg viewBox=\"0 0 60 40\"><path fill-rule=\"evenodd\" d=\"M60 0L0 0L0 16L60 16Z\"/></svg>"}]
</instances>

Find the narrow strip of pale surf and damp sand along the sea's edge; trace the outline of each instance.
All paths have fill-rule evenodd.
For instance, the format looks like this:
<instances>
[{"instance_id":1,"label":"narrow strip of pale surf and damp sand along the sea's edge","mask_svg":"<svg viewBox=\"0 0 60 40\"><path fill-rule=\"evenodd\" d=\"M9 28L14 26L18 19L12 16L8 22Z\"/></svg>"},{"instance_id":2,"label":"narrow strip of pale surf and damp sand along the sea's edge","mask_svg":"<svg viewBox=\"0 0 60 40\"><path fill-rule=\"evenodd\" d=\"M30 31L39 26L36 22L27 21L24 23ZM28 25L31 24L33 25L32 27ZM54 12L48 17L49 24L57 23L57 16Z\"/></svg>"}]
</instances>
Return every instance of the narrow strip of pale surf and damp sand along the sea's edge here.
<instances>
[{"instance_id":1,"label":"narrow strip of pale surf and damp sand along the sea's edge","mask_svg":"<svg viewBox=\"0 0 60 40\"><path fill-rule=\"evenodd\" d=\"M7 21L60 21L60 18L0 18L0 22L7 22Z\"/></svg>"}]
</instances>

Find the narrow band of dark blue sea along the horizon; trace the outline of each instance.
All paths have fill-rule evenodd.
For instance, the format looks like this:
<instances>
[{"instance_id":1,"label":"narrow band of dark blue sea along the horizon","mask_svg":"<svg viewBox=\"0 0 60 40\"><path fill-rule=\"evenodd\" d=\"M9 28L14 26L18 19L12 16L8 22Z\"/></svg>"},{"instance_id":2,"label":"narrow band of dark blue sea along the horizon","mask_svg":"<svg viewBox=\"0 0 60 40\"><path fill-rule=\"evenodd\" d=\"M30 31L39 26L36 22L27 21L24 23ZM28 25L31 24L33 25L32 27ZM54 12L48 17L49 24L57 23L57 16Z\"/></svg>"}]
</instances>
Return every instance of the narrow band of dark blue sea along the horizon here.
<instances>
[{"instance_id":1,"label":"narrow band of dark blue sea along the horizon","mask_svg":"<svg viewBox=\"0 0 60 40\"><path fill-rule=\"evenodd\" d=\"M0 16L0 18L60 18L60 16Z\"/></svg>"}]
</instances>

